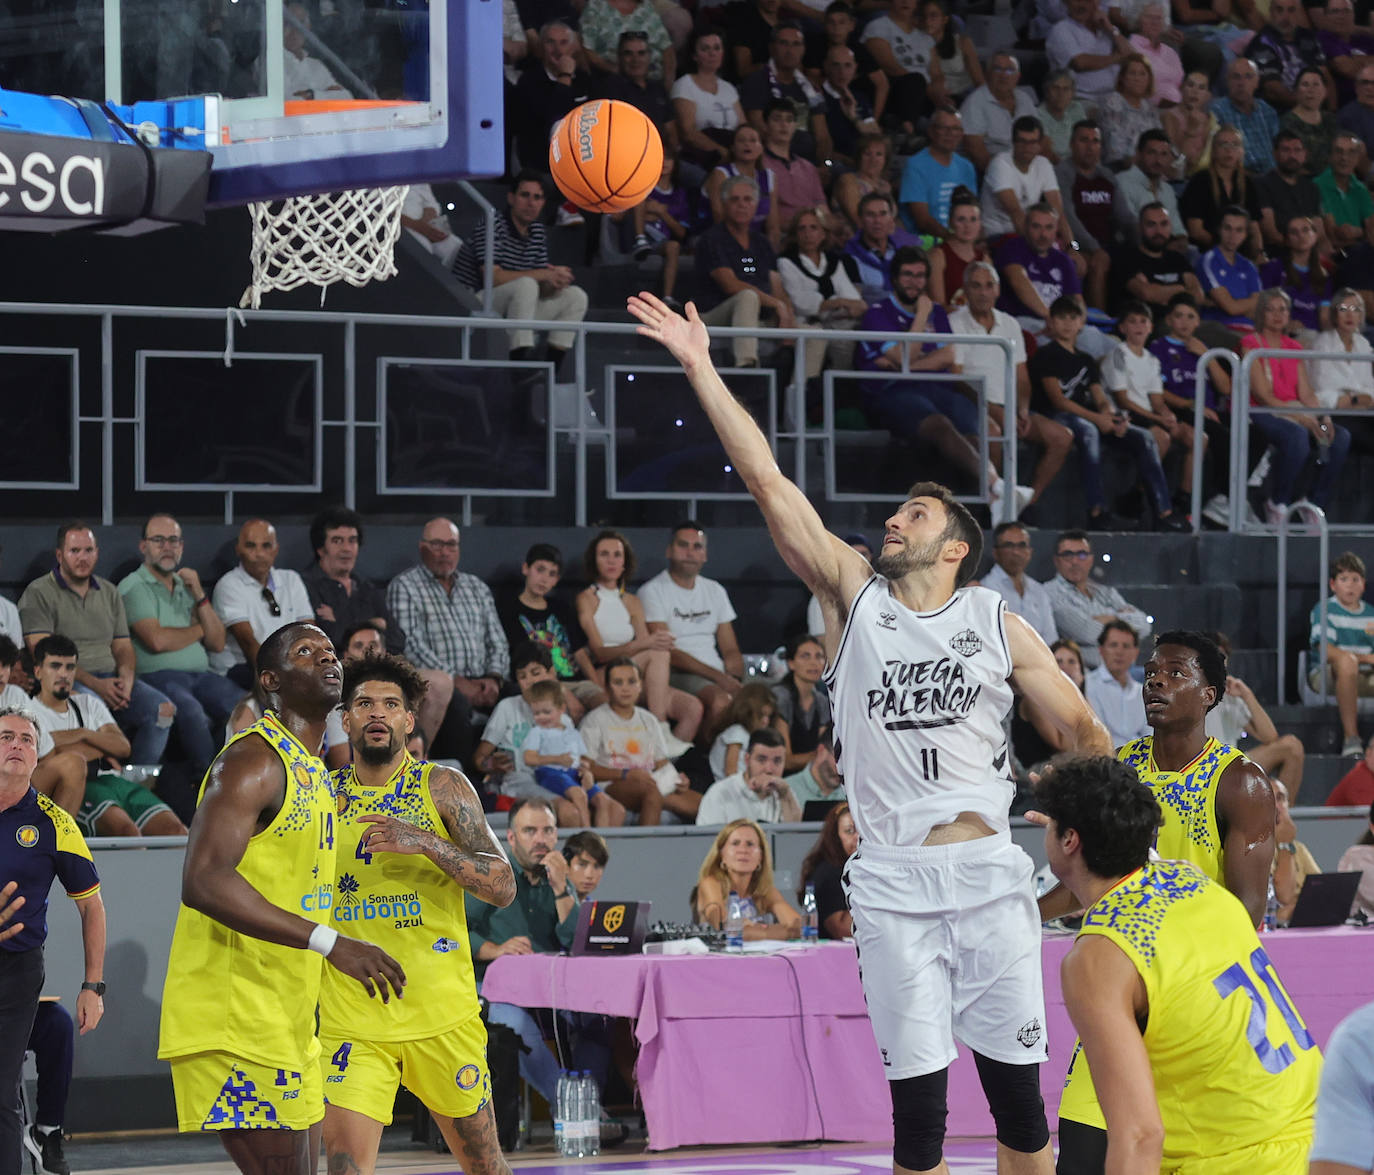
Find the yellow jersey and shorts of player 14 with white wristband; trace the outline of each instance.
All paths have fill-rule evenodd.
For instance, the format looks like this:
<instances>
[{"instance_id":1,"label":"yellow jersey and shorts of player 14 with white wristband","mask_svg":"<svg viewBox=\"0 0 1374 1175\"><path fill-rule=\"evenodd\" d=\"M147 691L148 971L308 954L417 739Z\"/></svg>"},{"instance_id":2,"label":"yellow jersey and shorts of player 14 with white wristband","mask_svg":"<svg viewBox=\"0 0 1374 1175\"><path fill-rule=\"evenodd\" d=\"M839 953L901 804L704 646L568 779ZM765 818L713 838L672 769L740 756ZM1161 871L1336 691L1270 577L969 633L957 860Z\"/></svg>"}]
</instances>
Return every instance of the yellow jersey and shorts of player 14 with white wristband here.
<instances>
[{"instance_id":1,"label":"yellow jersey and shorts of player 14 with white wristband","mask_svg":"<svg viewBox=\"0 0 1374 1175\"><path fill-rule=\"evenodd\" d=\"M245 738L276 752L286 790L272 822L249 838L238 871L273 906L327 922L335 820L328 771L272 713L228 746ZM313 951L265 943L181 907L158 1047L172 1061L180 1130L305 1130L320 1120L315 1009L323 967Z\"/></svg>"}]
</instances>

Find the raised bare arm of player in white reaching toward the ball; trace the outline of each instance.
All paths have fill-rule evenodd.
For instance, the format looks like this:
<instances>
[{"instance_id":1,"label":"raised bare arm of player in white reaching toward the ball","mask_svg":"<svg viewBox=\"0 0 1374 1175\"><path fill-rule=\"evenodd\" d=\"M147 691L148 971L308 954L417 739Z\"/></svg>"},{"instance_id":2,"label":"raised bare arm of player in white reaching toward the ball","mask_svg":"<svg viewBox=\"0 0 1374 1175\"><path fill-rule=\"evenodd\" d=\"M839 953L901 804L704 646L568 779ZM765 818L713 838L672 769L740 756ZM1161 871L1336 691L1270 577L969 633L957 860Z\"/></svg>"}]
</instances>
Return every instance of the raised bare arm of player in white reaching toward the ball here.
<instances>
[{"instance_id":1,"label":"raised bare arm of player in white reaching toward the ball","mask_svg":"<svg viewBox=\"0 0 1374 1175\"><path fill-rule=\"evenodd\" d=\"M682 364L731 463L763 510L783 561L820 596L822 606L842 620L872 570L857 551L826 530L807 495L783 477L768 438L710 361L710 337L697 306L688 302L683 317L642 293L629 300L628 309L642 323L639 334L661 342Z\"/></svg>"}]
</instances>

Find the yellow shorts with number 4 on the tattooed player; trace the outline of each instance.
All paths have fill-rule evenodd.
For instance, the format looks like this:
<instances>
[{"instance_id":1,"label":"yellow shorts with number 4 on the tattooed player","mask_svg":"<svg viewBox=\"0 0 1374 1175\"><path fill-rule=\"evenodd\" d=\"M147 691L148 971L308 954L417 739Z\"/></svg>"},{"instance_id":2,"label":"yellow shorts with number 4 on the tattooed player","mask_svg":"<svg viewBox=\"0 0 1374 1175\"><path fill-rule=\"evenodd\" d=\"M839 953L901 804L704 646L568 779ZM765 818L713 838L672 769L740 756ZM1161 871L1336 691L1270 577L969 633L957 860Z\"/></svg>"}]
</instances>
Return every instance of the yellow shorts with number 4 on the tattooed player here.
<instances>
[{"instance_id":1,"label":"yellow shorts with number 4 on the tattooed player","mask_svg":"<svg viewBox=\"0 0 1374 1175\"><path fill-rule=\"evenodd\" d=\"M492 1095L480 1016L423 1040L322 1035L320 1049L324 1099L382 1126L392 1121L398 1084L447 1117L470 1117Z\"/></svg>"}]
</instances>

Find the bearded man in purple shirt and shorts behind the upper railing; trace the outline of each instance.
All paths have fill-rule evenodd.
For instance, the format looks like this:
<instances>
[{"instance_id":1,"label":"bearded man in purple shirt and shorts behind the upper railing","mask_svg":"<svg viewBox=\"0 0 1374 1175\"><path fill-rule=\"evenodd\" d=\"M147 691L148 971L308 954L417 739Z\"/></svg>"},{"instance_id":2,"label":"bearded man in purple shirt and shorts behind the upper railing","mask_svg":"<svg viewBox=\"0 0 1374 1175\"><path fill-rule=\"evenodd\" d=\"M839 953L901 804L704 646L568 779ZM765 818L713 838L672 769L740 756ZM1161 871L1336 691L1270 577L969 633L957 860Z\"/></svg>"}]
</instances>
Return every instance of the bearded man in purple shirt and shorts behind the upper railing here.
<instances>
[{"instance_id":1,"label":"bearded man in purple shirt and shorts behind the upper railing","mask_svg":"<svg viewBox=\"0 0 1374 1175\"><path fill-rule=\"evenodd\" d=\"M949 319L944 306L930 301L926 283L930 262L926 254L903 246L892 258L892 293L871 305L859 323L859 330L889 331L892 334L949 334ZM907 371L958 371L954 346L933 342L900 344L860 342L855 366L860 371L901 371L905 352ZM875 423L905 441L922 440L937 448L951 465L970 478L982 473L978 456L978 410L952 383L925 379L863 381L864 412ZM988 467L988 491L996 502L1004 484L996 470ZM1017 507L1030 500L1029 486L1017 486Z\"/></svg>"}]
</instances>

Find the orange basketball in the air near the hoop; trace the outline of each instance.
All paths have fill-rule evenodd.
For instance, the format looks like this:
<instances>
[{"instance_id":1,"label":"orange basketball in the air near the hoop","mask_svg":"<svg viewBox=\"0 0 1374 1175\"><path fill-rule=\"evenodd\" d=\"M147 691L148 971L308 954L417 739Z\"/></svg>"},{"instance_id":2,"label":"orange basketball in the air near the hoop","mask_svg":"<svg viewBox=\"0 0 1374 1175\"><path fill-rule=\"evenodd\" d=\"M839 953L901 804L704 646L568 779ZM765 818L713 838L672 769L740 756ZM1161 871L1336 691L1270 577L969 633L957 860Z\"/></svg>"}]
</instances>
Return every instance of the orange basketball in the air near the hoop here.
<instances>
[{"instance_id":1,"label":"orange basketball in the air near the hoop","mask_svg":"<svg viewBox=\"0 0 1374 1175\"><path fill-rule=\"evenodd\" d=\"M658 128L628 102L599 98L574 107L554 126L548 170L559 190L587 212L622 212L643 203L664 170Z\"/></svg>"}]
</instances>

